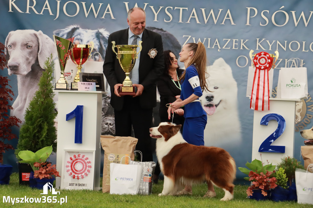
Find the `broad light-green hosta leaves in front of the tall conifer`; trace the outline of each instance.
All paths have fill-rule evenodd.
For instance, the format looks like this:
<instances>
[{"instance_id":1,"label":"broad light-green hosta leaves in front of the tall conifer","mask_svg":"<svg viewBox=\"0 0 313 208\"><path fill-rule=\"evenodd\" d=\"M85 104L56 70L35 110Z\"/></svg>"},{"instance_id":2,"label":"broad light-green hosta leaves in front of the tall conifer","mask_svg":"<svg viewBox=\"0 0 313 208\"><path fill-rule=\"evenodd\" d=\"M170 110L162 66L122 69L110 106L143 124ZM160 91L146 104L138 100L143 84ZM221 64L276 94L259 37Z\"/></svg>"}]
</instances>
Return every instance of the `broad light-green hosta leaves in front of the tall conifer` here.
<instances>
[{"instance_id":1,"label":"broad light-green hosta leaves in front of the tall conifer","mask_svg":"<svg viewBox=\"0 0 313 208\"><path fill-rule=\"evenodd\" d=\"M39 166L34 166L34 163L45 162L51 153L52 153L52 145L46 146L36 152L32 152L29 150L22 150L18 152L18 156L22 159L22 161L19 161L19 162L28 163L32 167L35 173L35 171L39 170Z\"/></svg>"}]
</instances>

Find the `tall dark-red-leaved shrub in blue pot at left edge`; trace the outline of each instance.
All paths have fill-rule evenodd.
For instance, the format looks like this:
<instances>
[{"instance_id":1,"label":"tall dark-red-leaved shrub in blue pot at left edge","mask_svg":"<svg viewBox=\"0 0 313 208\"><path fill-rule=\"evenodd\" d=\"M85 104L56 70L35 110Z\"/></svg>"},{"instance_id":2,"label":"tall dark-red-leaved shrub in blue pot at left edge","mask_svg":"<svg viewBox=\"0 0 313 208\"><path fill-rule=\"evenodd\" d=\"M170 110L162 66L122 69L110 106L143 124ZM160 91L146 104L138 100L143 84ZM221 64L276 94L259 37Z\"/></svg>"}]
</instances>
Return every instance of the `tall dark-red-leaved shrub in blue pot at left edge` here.
<instances>
[{"instance_id":1,"label":"tall dark-red-leaved shrub in blue pot at left edge","mask_svg":"<svg viewBox=\"0 0 313 208\"><path fill-rule=\"evenodd\" d=\"M5 67L5 55L4 50L5 46L0 42L0 69L3 70ZM11 86L8 84L8 77L3 77L0 75L0 185L9 184L10 175L12 174L13 167L8 164L3 164L3 154L7 150L13 150L14 147L6 143L11 139L17 138L15 134L12 133L12 127L18 126L18 123L21 123L15 116L9 116L8 110L12 110L12 106L9 105L9 101L12 101L14 96L13 91L10 89ZM10 88L7 88L10 87Z\"/></svg>"}]
</instances>

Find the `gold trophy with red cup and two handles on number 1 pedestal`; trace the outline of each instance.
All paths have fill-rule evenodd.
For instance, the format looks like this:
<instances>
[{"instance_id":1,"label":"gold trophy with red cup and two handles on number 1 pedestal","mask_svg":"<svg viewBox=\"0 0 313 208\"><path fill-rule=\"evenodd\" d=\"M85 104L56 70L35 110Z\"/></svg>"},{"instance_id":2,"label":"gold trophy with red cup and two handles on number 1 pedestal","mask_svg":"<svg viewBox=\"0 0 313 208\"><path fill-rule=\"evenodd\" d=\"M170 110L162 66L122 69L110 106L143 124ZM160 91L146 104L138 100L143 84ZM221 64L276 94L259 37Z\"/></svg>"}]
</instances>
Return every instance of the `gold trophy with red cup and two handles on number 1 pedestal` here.
<instances>
[{"instance_id":1,"label":"gold trophy with red cup and two handles on number 1 pedestal","mask_svg":"<svg viewBox=\"0 0 313 208\"><path fill-rule=\"evenodd\" d=\"M91 48L89 52L89 48ZM77 73L74 77L74 82L71 83L71 90L78 90L78 83L80 82L79 73L81 72L82 65L87 61L88 56L91 57L91 52L94 48L94 42L90 42L90 45L73 44L71 49L71 59L74 64L77 64Z\"/></svg>"}]
</instances>

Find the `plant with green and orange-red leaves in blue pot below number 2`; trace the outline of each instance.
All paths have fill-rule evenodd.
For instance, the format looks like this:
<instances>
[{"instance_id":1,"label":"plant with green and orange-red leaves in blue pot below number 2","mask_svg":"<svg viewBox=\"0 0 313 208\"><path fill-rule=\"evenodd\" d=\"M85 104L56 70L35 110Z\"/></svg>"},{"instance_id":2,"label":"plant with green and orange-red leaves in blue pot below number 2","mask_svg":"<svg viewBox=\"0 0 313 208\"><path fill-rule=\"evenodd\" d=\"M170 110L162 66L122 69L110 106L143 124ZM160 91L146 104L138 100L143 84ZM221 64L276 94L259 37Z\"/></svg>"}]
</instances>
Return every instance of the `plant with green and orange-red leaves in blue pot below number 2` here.
<instances>
[{"instance_id":1,"label":"plant with green and orange-red leaves in blue pot below number 2","mask_svg":"<svg viewBox=\"0 0 313 208\"><path fill-rule=\"evenodd\" d=\"M277 186L276 178L273 177L276 166L272 165L272 163L269 164L268 161L267 165L263 164L263 161L255 159L251 163L246 163L249 169L244 167L238 168L241 172L248 175L248 177L244 177L244 179L251 181L251 185L247 189L247 195L251 199L265 200L269 196L269 190Z\"/></svg>"}]
</instances>

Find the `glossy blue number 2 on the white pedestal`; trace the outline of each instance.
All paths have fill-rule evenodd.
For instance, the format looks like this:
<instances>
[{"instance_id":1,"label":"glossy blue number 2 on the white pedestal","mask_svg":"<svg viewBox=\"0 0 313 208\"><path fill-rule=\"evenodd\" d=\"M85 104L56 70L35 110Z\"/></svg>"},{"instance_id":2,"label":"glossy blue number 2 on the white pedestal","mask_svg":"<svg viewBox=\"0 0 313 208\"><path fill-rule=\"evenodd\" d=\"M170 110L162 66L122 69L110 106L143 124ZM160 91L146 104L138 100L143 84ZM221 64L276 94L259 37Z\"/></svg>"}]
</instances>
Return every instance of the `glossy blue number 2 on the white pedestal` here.
<instances>
[{"instance_id":1,"label":"glossy blue number 2 on the white pedestal","mask_svg":"<svg viewBox=\"0 0 313 208\"><path fill-rule=\"evenodd\" d=\"M278 123L277 129L267 137L259 147L259 152L277 152L285 153L285 146L274 146L271 145L280 135L285 131L286 121L283 116L277 113L269 113L261 119L261 125L266 125L270 120L275 120Z\"/></svg>"}]
</instances>

